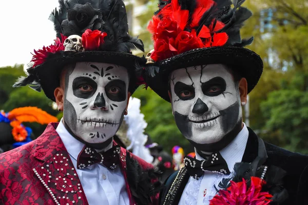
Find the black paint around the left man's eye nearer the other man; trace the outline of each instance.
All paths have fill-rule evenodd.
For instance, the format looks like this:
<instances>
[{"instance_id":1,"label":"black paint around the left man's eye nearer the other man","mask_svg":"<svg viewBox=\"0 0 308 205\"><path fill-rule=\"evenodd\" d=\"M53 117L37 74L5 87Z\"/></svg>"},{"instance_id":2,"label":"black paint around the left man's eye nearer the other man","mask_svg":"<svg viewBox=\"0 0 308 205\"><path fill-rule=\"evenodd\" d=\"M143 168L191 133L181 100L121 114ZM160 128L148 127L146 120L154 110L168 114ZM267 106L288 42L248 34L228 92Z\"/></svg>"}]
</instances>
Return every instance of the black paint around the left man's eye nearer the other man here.
<instances>
[{"instance_id":1,"label":"black paint around the left man's eye nearer the other man","mask_svg":"<svg viewBox=\"0 0 308 205\"><path fill-rule=\"evenodd\" d=\"M112 80L105 86L105 92L112 101L124 101L126 99L126 84L123 80Z\"/></svg>"}]
</instances>

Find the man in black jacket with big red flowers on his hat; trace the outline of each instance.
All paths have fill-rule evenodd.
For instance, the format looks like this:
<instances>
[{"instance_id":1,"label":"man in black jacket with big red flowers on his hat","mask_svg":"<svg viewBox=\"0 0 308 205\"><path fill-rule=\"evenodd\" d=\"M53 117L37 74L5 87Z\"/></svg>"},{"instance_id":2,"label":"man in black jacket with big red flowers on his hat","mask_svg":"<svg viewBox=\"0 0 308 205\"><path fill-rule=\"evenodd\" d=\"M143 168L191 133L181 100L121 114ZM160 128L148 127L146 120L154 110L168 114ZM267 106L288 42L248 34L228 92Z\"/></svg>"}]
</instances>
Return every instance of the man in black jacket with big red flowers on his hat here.
<instances>
[{"instance_id":1,"label":"man in black jacket with big red flowers on his hat","mask_svg":"<svg viewBox=\"0 0 308 205\"><path fill-rule=\"evenodd\" d=\"M263 71L260 56L243 48L253 41L240 36L252 15L243 2L161 1L148 26L154 49L147 55L146 83L171 103L196 153L165 181L161 204L308 203L308 157L263 142L242 120L241 106ZM257 185L251 177L273 197L258 197L260 190L238 196ZM230 188L230 180L235 186L243 179L246 190Z\"/></svg>"}]
</instances>

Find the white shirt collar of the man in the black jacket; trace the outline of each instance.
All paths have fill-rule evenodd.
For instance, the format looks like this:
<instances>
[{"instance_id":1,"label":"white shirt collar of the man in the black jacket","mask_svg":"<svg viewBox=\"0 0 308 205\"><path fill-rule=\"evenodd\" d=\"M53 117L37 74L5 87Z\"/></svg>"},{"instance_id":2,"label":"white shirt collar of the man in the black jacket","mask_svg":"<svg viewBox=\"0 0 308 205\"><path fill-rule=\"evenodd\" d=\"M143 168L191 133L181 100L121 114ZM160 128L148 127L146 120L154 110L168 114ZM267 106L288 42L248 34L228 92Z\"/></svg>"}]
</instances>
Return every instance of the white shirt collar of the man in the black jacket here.
<instances>
[{"instance_id":1,"label":"white shirt collar of the man in the black jacket","mask_svg":"<svg viewBox=\"0 0 308 205\"><path fill-rule=\"evenodd\" d=\"M235 137L235 139L225 148L220 150L220 154L227 162L230 172L233 171L235 163L242 161L248 140L248 135L248 129L243 122L243 128ZM196 152L196 159L203 160L203 158L198 154L198 152Z\"/></svg>"}]
</instances>

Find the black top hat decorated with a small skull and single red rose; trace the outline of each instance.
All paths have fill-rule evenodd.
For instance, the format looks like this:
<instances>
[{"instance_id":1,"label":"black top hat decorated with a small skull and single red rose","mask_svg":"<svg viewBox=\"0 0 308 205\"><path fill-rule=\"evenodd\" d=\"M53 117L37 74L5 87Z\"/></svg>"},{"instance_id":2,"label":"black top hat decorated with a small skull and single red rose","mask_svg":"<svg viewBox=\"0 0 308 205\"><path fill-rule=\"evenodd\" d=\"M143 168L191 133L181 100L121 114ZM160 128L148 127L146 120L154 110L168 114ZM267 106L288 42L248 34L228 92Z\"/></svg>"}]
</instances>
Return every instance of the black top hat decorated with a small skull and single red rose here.
<instances>
[{"instance_id":1,"label":"black top hat decorated with a small skull and single red rose","mask_svg":"<svg viewBox=\"0 0 308 205\"><path fill-rule=\"evenodd\" d=\"M131 50L144 51L140 39L128 34L127 13L122 0L59 0L49 19L54 23L54 45L34 50L27 69L14 87L29 85L44 90L54 99L53 91L60 85L60 74L67 64L94 61L117 64L128 69L129 91L136 90L135 70L145 58L132 55Z\"/></svg>"}]
</instances>

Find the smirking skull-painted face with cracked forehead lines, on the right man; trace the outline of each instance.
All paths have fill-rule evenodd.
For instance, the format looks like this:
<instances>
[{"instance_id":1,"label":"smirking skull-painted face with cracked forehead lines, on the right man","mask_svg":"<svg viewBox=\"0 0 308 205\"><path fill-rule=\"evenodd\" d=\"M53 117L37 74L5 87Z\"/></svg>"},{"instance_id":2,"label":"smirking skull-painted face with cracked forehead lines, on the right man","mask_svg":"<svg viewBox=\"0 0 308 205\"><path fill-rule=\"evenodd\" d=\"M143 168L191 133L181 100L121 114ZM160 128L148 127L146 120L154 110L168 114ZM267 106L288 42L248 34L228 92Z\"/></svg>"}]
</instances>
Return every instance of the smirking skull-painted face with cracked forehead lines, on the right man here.
<instances>
[{"instance_id":1,"label":"smirking skull-painted face with cracked forehead lines, on the right man","mask_svg":"<svg viewBox=\"0 0 308 205\"><path fill-rule=\"evenodd\" d=\"M177 126L196 144L220 141L242 118L239 90L221 64L175 70L170 89Z\"/></svg>"}]
</instances>

